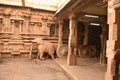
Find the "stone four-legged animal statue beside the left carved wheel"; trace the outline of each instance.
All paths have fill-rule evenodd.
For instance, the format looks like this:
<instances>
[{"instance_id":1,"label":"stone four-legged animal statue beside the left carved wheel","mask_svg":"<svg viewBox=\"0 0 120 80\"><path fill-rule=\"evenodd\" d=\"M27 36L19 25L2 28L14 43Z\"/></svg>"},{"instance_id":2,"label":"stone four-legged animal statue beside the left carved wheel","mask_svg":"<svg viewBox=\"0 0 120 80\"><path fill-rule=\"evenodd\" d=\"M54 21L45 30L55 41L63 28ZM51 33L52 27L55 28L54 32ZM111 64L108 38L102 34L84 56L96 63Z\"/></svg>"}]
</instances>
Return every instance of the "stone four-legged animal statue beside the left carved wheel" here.
<instances>
[{"instance_id":1,"label":"stone four-legged animal statue beside the left carved wheel","mask_svg":"<svg viewBox=\"0 0 120 80\"><path fill-rule=\"evenodd\" d=\"M43 57L44 53L48 53L52 59L54 59L54 54L56 50L56 46L53 43L44 41L42 39L37 40L38 43L38 55L37 59L45 59Z\"/></svg>"}]
</instances>

